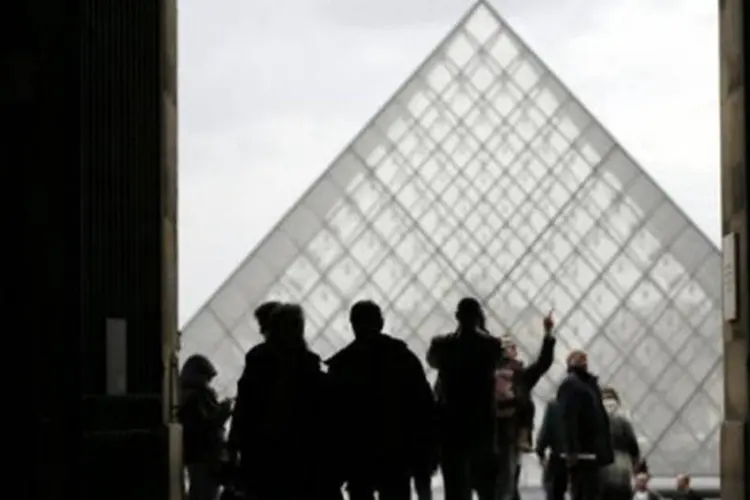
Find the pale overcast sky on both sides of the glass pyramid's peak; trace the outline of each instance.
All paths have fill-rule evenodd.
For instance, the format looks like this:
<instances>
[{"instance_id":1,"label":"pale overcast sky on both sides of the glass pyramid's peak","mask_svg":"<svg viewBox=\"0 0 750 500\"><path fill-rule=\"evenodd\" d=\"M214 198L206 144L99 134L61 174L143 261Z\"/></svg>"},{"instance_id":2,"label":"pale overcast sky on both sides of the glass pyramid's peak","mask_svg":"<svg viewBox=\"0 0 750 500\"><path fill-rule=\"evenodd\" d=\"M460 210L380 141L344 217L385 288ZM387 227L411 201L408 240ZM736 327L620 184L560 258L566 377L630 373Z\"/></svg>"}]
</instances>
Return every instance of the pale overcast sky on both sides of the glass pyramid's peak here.
<instances>
[{"instance_id":1,"label":"pale overcast sky on both sides of the glass pyramid's peak","mask_svg":"<svg viewBox=\"0 0 750 500\"><path fill-rule=\"evenodd\" d=\"M180 0L181 323L472 3ZM718 241L718 3L493 3Z\"/></svg>"}]
</instances>

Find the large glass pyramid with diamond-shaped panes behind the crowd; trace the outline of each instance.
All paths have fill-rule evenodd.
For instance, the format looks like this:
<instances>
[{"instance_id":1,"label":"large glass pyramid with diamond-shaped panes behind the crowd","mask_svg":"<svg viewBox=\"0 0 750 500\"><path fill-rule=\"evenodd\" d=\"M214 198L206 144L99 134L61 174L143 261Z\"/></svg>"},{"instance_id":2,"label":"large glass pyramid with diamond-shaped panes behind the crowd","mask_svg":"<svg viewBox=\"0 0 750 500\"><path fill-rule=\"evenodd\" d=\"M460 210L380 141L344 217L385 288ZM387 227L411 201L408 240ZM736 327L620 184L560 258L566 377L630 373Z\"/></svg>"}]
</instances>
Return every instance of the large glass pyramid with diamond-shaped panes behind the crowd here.
<instances>
[{"instance_id":1,"label":"large glass pyramid with diamond-shaped panes behind the crowd","mask_svg":"<svg viewBox=\"0 0 750 500\"><path fill-rule=\"evenodd\" d=\"M656 475L718 473L720 257L487 3L479 2L183 329L234 391L252 311L301 303L312 349L352 338L357 299L420 355L479 297L526 356L558 318L555 365L589 351ZM532 463L533 462L533 463ZM535 461L525 481L539 484Z\"/></svg>"}]
</instances>

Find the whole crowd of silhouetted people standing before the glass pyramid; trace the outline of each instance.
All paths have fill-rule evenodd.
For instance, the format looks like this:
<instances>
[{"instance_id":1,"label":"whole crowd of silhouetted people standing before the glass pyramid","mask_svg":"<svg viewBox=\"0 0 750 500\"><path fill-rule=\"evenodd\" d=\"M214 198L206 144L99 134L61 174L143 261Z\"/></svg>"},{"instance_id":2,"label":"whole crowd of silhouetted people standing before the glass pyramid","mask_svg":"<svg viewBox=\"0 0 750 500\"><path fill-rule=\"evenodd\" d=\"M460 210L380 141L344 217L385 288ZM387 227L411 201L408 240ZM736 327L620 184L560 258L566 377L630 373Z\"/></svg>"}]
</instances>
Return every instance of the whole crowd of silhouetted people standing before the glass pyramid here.
<instances>
[{"instance_id":1,"label":"whole crowd of silhouetted people standing before the glass pyramid","mask_svg":"<svg viewBox=\"0 0 750 500\"><path fill-rule=\"evenodd\" d=\"M246 354L235 399L219 401L205 356L182 367L189 500L431 500L438 472L446 500L519 500L524 453L539 457L550 500L658 497L617 391L600 387L583 351L568 354L532 439L531 394L554 359L551 313L525 364L512 337L487 331L480 303L462 299L455 331L427 351L434 386L407 344L384 333L374 302L352 306L354 340L325 361L305 342L299 305L269 302L255 317L263 341Z\"/></svg>"}]
</instances>

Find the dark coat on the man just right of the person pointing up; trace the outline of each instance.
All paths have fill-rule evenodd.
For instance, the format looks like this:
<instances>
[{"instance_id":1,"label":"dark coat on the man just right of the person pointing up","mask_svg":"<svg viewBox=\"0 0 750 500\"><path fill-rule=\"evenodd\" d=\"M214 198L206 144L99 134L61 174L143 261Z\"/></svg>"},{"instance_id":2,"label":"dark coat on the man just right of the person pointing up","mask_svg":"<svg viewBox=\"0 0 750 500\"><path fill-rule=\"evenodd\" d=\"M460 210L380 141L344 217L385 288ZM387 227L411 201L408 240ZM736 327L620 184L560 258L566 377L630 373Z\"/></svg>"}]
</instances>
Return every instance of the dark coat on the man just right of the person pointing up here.
<instances>
[{"instance_id":1,"label":"dark coat on the man just right of the person pointing up","mask_svg":"<svg viewBox=\"0 0 750 500\"><path fill-rule=\"evenodd\" d=\"M589 373L569 371L557 391L563 430L561 453L592 454L599 465L614 461L609 416L601 388Z\"/></svg>"}]
</instances>

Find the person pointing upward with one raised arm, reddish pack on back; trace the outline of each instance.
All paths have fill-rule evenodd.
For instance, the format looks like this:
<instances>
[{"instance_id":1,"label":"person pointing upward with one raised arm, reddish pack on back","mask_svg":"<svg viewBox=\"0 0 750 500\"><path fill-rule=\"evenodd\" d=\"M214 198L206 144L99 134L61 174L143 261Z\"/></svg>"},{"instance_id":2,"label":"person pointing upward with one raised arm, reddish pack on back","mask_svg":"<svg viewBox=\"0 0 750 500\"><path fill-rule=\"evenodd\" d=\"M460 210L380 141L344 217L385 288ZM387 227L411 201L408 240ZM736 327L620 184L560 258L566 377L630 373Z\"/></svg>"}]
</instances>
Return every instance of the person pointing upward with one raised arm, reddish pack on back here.
<instances>
[{"instance_id":1,"label":"person pointing upward with one raised arm, reddish pack on back","mask_svg":"<svg viewBox=\"0 0 750 500\"><path fill-rule=\"evenodd\" d=\"M552 366L555 358L556 340L552 335L555 326L552 313L547 315L542 326L544 337L537 359L525 365L518 357L518 348L512 338L503 341L505 365L513 371L514 401L505 404L505 409L498 414L498 453L500 469L498 485L501 498L511 495L520 499L518 482L521 477L520 453L531 452L531 433L534 428L534 401L531 392L539 380ZM509 472L510 471L510 472Z\"/></svg>"}]
</instances>

